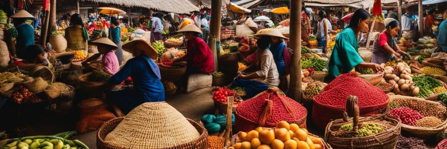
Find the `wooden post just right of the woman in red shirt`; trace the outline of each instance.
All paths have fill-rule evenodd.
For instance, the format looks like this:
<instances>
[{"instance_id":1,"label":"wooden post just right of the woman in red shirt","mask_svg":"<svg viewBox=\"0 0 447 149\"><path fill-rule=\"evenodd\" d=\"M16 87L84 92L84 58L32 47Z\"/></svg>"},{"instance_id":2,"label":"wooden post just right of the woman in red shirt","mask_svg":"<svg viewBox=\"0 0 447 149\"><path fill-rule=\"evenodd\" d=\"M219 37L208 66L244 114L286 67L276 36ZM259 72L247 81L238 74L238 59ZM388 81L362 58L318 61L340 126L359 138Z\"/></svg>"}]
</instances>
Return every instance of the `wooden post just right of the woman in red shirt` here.
<instances>
[{"instance_id":1,"label":"wooden post just right of the woman in red shirt","mask_svg":"<svg viewBox=\"0 0 447 149\"><path fill-rule=\"evenodd\" d=\"M220 41L220 16L222 9L222 0L213 0L211 2L211 22L210 22L210 36L208 39L208 46L211 48L214 60L214 70L218 71L218 54L216 42Z\"/></svg>"}]
</instances>

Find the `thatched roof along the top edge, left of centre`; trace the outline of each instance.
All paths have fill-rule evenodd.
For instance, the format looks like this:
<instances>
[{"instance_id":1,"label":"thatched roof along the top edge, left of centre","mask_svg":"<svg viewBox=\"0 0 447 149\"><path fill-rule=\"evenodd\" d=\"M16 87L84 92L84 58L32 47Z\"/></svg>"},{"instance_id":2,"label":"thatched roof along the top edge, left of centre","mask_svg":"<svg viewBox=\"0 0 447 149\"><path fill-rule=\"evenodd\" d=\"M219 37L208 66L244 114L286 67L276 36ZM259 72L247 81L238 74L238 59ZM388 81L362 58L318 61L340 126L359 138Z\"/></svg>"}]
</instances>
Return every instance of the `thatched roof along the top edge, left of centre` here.
<instances>
[{"instance_id":1,"label":"thatched roof along the top edge, left of centre","mask_svg":"<svg viewBox=\"0 0 447 149\"><path fill-rule=\"evenodd\" d=\"M81 0L126 7L143 7L169 13L190 13L199 8L188 0Z\"/></svg>"}]
</instances>

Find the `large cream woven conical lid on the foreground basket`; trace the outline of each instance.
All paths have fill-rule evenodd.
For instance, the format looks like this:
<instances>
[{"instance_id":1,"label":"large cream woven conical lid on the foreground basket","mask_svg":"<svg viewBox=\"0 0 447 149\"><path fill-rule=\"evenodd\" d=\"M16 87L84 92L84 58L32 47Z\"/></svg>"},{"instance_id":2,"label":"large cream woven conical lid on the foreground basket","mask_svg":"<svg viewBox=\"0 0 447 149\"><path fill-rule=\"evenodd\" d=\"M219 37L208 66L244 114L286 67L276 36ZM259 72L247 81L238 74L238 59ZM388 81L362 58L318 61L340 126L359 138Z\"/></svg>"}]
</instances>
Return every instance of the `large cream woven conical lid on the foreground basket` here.
<instances>
[{"instance_id":1,"label":"large cream woven conical lid on the foreground basket","mask_svg":"<svg viewBox=\"0 0 447 149\"><path fill-rule=\"evenodd\" d=\"M199 136L197 129L168 103L146 102L129 112L105 141L122 149L164 149Z\"/></svg>"}]
</instances>

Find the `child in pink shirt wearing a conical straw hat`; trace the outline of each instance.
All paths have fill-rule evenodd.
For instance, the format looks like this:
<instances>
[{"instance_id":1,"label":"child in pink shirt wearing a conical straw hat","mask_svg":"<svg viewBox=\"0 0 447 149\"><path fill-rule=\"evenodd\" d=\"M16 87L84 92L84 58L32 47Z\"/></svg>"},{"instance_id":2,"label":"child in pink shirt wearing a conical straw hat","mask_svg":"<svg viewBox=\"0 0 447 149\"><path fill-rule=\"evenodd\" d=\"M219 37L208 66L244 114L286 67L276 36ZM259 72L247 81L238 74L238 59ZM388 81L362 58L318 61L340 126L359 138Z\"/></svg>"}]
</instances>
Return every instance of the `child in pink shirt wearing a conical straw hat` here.
<instances>
[{"instance_id":1,"label":"child in pink shirt wearing a conical straw hat","mask_svg":"<svg viewBox=\"0 0 447 149\"><path fill-rule=\"evenodd\" d=\"M116 72L118 72L118 58L113 51L114 49L118 48L115 43L113 43L109 38L99 38L89 44L97 46L99 53L96 53L86 60L82 61L83 66L90 64L92 61L98 60L99 56L102 55L102 69L110 75L114 75Z\"/></svg>"}]
</instances>

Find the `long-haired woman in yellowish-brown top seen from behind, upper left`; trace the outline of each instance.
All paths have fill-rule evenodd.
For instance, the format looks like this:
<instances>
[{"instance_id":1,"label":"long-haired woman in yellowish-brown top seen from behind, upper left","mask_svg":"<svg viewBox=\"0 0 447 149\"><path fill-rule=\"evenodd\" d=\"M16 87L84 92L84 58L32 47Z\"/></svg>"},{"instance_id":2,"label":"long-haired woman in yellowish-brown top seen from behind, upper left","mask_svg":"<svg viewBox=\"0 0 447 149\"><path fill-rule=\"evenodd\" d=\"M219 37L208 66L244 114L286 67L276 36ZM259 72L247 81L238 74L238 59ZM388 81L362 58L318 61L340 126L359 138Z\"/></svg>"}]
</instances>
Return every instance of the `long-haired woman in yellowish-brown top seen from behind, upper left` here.
<instances>
[{"instance_id":1,"label":"long-haired woman in yellowish-brown top seen from behind, upper left","mask_svg":"<svg viewBox=\"0 0 447 149\"><path fill-rule=\"evenodd\" d=\"M87 41L90 40L89 32L85 29L84 22L78 13L75 13L70 18L72 26L65 29L65 39L67 39L67 51L88 51L89 46Z\"/></svg>"}]
</instances>

